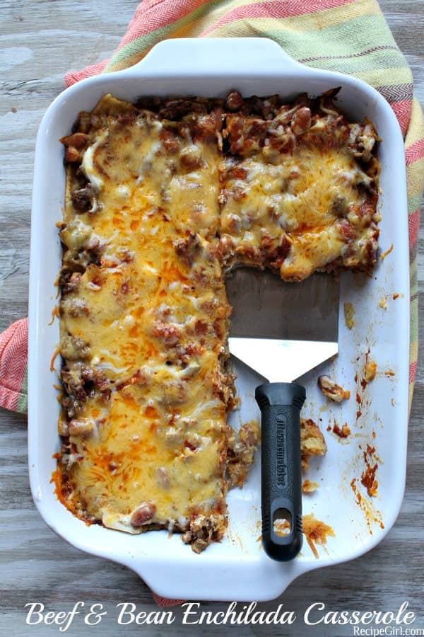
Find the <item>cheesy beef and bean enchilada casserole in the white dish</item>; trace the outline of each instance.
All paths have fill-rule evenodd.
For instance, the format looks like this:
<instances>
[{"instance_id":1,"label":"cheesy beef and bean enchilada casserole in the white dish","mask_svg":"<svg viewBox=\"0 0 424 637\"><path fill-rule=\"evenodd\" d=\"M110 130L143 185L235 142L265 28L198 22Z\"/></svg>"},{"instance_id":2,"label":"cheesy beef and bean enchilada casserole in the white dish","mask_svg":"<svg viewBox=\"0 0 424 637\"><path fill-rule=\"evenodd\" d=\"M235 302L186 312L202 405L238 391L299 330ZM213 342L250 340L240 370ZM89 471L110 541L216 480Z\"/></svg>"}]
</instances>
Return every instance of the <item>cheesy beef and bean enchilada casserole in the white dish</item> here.
<instances>
[{"instance_id":1,"label":"cheesy beef and bean enchilada casserole in the white dish","mask_svg":"<svg viewBox=\"0 0 424 637\"><path fill-rule=\"evenodd\" d=\"M54 480L82 520L181 532L196 552L223 536L225 495L259 442L257 423L226 422L225 274L248 265L295 282L375 264L377 134L335 97L107 95L61 139ZM311 422L308 457L325 451Z\"/></svg>"}]
</instances>

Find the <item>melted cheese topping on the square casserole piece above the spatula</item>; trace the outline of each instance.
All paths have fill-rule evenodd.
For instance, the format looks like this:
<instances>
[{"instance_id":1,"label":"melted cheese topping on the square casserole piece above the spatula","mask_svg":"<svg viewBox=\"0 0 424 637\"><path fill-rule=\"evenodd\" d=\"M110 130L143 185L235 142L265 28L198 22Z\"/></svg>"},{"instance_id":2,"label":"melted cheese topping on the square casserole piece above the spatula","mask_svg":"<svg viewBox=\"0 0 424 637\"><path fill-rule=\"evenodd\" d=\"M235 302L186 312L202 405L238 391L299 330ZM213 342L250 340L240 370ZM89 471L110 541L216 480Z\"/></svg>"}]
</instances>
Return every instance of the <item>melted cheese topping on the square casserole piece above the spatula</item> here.
<instances>
[{"instance_id":1,"label":"melted cheese topping on the square casserole piece above the spatula","mask_svg":"<svg viewBox=\"0 0 424 637\"><path fill-rule=\"evenodd\" d=\"M369 268L377 246L372 180L348 146L299 145L272 163L267 151L230 156L220 166L220 233L237 259L271 262L284 280L303 280L334 262Z\"/></svg>"}]
</instances>

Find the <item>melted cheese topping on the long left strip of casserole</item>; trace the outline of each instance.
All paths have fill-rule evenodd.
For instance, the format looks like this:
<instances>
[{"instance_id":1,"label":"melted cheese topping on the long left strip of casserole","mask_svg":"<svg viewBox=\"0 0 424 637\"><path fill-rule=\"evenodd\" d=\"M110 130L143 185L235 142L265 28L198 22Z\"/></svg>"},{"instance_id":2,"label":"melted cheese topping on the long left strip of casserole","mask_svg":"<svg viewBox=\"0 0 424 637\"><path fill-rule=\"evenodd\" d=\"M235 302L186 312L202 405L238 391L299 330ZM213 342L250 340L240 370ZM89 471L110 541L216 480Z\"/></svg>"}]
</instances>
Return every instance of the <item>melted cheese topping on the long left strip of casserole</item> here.
<instances>
[{"instance_id":1,"label":"melted cheese topping on the long left strip of casserole","mask_svg":"<svg viewBox=\"0 0 424 637\"><path fill-rule=\"evenodd\" d=\"M95 236L101 256L62 299L61 350L72 367L64 343L69 335L86 343L84 364L110 390L76 416L95 423L88 435L70 429L78 461L69 481L90 517L129 532L142 530L130 518L146 501L155 505L148 524L184 527L196 512L218 512L225 524L218 380L228 306L220 264L202 239L218 224L218 149L196 142L199 165L188 171L180 151L164 147L162 128L148 115L110 121L82 162L98 212L67 210L81 236L66 235L71 251ZM199 241L191 267L175 249L187 228Z\"/></svg>"}]
</instances>

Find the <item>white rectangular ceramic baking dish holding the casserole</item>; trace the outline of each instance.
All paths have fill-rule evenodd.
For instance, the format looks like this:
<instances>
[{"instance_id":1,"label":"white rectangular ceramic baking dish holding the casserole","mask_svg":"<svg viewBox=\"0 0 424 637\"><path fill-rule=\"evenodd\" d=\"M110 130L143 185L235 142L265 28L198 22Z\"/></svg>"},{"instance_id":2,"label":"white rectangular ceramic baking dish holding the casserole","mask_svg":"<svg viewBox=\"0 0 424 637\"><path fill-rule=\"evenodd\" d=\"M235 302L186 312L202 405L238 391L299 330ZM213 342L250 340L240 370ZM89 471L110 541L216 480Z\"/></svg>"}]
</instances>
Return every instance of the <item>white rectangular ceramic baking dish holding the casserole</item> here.
<instances>
[{"instance_id":1,"label":"white rectangular ceramic baking dish holding the casserole","mask_svg":"<svg viewBox=\"0 0 424 637\"><path fill-rule=\"evenodd\" d=\"M291 98L305 91L322 93L335 86L342 87L340 104L348 115L356 120L370 117L382 137L380 246L384 251L394 244L373 277L341 276L340 354L322 370L351 389L351 400L342 406L326 406L317 389L317 370L302 379L307 388L302 413L317 421L322 418L320 424L328 444L326 457L312 462L308 478L320 486L314 495L305 496L304 513L313 512L317 519L331 525L336 536L329 538L325 547L318 546L319 559L314 558L306 542L302 554L291 563L267 558L258 541L259 459L245 488L228 495L230 526L225 539L201 555L190 551L178 535L168 537L165 531L131 536L97 525L87 527L59 503L50 482L56 463L52 454L59 449L59 406L53 387L57 376L49 371L59 335L58 322L49 324L57 294L54 280L61 263L55 222L61 219L65 173L59 137L70 132L78 111L92 109L107 92L129 101L153 94L225 96L232 88L245 96L280 93ZM135 67L84 80L61 93L47 110L37 136L30 261L30 482L35 504L49 527L78 549L135 570L160 595L215 600L273 599L301 573L350 560L381 541L399 512L405 482L409 345L406 219L404 145L388 103L361 81L294 62L271 40L167 40L156 45ZM392 300L394 293L399 294L396 301ZM384 295L387 309L378 306ZM343 321L344 302L352 302L355 307L351 331ZM365 390L363 416L357 420L354 377L362 373L368 347L379 372ZM382 373L389 369L396 375ZM259 416L252 398L257 378L239 372L239 392L244 400L241 411L232 415L234 423ZM346 422L351 427L348 442L342 443L326 432L326 425L333 425L334 418L340 425ZM355 501L351 481L357 478L364 495L360 476L365 469L363 449L367 442L375 446L381 461L378 495L372 498L366 516ZM369 501L365 497L363 507Z\"/></svg>"}]
</instances>

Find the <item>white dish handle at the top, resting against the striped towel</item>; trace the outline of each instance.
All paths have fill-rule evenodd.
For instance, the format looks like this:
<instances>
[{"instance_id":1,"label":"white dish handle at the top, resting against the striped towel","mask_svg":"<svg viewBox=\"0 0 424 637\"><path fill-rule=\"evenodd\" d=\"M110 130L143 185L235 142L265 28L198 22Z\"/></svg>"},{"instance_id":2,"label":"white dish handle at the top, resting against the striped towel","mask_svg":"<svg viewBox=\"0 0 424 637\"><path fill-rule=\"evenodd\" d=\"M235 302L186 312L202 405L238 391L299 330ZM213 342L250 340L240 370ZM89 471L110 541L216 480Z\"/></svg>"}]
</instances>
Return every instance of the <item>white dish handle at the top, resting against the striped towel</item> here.
<instances>
[{"instance_id":1,"label":"white dish handle at the top, resting against the striped towel","mask_svg":"<svg viewBox=\"0 0 424 637\"><path fill-rule=\"evenodd\" d=\"M165 77L234 71L237 76L251 76L276 65L281 69L302 66L269 38L174 38L158 42L146 57L121 73L142 71L143 76Z\"/></svg>"}]
</instances>

